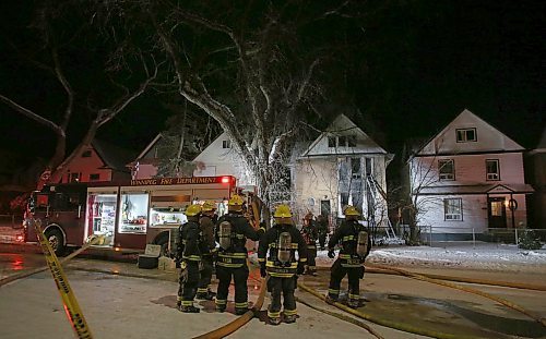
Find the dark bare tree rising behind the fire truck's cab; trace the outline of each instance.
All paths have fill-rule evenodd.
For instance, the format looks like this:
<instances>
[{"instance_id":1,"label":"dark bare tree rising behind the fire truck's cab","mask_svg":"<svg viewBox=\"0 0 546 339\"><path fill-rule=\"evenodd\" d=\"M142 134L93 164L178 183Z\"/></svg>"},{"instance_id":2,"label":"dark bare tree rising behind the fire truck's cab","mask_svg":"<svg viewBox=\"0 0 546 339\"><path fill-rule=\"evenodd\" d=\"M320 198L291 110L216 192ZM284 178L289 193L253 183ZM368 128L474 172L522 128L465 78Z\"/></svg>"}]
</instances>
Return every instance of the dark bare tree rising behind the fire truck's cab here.
<instances>
[{"instance_id":1,"label":"dark bare tree rising behind the fire truck's cab","mask_svg":"<svg viewBox=\"0 0 546 339\"><path fill-rule=\"evenodd\" d=\"M155 63L154 59L145 60L144 53L139 53L139 59L141 62L142 81L134 88L129 89L126 86L116 84L117 93L119 96L117 98L110 98L110 104L103 107L93 107L92 99L81 98L87 100L87 107L83 108L86 112L91 113L91 121L88 121L87 129L83 135L81 135L78 146L68 154L67 149L67 137L69 134L69 125L72 123L74 117L80 120L80 123L87 119L87 117L75 111L82 110L81 107L76 107L78 102L78 90L74 89L72 85L72 80L80 76L80 73L71 72L68 74L66 68L63 66L63 60L70 60L73 55L70 55L70 46L75 44L74 41L81 38L83 31L88 28L88 23L80 23L78 27L63 27L62 34L56 32L55 22L60 20L62 15L73 15L71 12L74 8L68 8L66 5L52 4L48 1L41 4L41 7L36 11L36 19L33 21L32 28L35 32L36 38L39 39L40 46L43 47L41 56L44 61L38 59L29 58L24 51L20 51L17 47L13 44L12 47L15 52L20 52L21 59L34 64L38 70L45 71L49 76L54 77L60 85L60 89L64 96L64 106L57 107L56 110L62 111L60 114L51 114L50 112L37 112L36 109L31 109L24 104L16 102L7 95L0 94L0 101L4 102L7 106L13 109L13 111L23 114L24 117L35 121L36 123L46 126L52 131L56 135L56 146L52 156L48 159L46 168L38 179L38 189L48 181L57 182L59 180L58 175L62 172L62 169L69 164L75 156L78 156L82 148L88 146L97 130L104 124L111 121L119 112L128 107L133 100L141 96L150 85L150 83L157 76L158 65ZM71 29L73 28L73 29ZM66 36L66 32L69 35ZM62 36L62 37L61 37ZM73 62L73 60L70 60ZM105 70L107 66L105 65ZM69 71L70 73L70 71ZM100 84L104 85L104 84ZM56 120L55 116L59 116Z\"/></svg>"}]
</instances>

